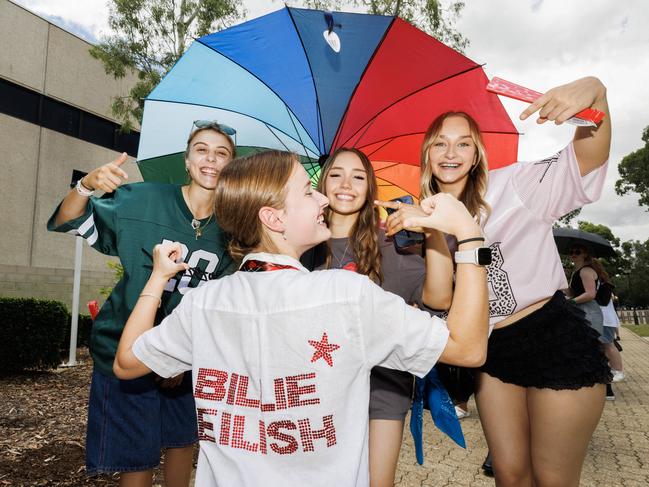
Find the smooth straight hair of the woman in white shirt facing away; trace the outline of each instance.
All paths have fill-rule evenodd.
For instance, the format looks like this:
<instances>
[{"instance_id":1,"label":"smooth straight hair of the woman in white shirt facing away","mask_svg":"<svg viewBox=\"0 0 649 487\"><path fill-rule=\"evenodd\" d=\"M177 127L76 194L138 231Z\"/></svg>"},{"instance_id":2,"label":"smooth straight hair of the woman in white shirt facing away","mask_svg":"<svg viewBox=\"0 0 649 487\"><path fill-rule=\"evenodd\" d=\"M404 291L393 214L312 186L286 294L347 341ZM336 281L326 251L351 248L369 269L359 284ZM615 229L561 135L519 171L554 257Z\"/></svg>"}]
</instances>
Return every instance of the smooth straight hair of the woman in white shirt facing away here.
<instances>
[{"instance_id":1,"label":"smooth straight hair of the woman in white shirt facing away","mask_svg":"<svg viewBox=\"0 0 649 487\"><path fill-rule=\"evenodd\" d=\"M221 171L214 213L231 237L229 251L235 261L254 250L277 251L259 219L259 210L264 206L284 208L286 184L296 164L295 154L269 150L236 159Z\"/></svg>"}]
</instances>

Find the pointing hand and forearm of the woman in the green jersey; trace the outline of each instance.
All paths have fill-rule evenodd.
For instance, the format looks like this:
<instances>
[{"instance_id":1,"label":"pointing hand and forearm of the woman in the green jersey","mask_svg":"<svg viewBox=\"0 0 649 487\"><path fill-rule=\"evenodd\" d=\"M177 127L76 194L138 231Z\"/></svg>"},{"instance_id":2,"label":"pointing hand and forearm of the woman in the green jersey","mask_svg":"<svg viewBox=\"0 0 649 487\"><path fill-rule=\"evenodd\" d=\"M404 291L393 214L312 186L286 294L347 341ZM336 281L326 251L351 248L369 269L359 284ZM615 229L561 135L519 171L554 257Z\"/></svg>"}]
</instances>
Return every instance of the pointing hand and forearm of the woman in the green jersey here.
<instances>
[{"instance_id":1,"label":"pointing hand and forearm of the woman in the green jersey","mask_svg":"<svg viewBox=\"0 0 649 487\"><path fill-rule=\"evenodd\" d=\"M126 162L128 156L122 153L117 159L89 172L81 179L81 185L87 191L101 190L112 193L128 179L128 174L120 167ZM61 203L56 214L56 225L80 217L86 211L89 196L83 196L75 188L71 189Z\"/></svg>"}]
</instances>

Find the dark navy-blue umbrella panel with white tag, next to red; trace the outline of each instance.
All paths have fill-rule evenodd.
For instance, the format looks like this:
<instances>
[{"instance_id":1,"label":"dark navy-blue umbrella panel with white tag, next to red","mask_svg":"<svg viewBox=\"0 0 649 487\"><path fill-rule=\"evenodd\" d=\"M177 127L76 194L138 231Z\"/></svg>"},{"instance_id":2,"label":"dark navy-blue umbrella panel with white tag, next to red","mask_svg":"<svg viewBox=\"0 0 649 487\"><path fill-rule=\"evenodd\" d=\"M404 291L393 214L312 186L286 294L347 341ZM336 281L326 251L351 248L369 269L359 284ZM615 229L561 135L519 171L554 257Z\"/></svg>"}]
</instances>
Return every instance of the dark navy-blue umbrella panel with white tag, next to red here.
<instances>
[{"instance_id":1,"label":"dark navy-blue umbrella panel with white tag, next to red","mask_svg":"<svg viewBox=\"0 0 649 487\"><path fill-rule=\"evenodd\" d=\"M340 52L329 47L324 12L289 8L311 67L327 152L365 68L394 17L333 12Z\"/></svg>"}]
</instances>

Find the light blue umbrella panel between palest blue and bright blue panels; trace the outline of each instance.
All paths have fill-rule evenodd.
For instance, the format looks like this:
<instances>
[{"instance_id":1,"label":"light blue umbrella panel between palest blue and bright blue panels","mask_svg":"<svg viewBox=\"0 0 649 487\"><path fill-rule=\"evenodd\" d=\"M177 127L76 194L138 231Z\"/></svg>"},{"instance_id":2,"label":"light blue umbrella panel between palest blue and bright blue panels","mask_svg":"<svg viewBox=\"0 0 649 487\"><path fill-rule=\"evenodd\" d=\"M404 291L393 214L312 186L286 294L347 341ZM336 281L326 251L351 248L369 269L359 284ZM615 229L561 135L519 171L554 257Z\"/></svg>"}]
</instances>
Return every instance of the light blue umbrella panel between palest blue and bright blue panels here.
<instances>
[{"instance_id":1,"label":"light blue umbrella panel between palest blue and bright blue panels","mask_svg":"<svg viewBox=\"0 0 649 487\"><path fill-rule=\"evenodd\" d=\"M228 83L216 89L215 80L220 78L227 79ZM241 66L200 42L191 45L147 99L242 113L318 152L311 137L302 125L295 123L276 93Z\"/></svg>"}]
</instances>

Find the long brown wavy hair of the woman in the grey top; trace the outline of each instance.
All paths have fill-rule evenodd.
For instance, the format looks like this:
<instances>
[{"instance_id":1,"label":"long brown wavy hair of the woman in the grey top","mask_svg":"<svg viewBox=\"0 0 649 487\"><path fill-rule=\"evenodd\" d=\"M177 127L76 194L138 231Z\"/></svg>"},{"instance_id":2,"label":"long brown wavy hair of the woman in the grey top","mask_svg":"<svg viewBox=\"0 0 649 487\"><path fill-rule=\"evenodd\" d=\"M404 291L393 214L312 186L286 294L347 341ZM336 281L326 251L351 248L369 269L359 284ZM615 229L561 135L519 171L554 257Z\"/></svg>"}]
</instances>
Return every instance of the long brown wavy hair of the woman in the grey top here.
<instances>
[{"instance_id":1,"label":"long brown wavy hair of the woman in the grey top","mask_svg":"<svg viewBox=\"0 0 649 487\"><path fill-rule=\"evenodd\" d=\"M378 183L376 181L376 174L369 158L360 150L340 147L331 154L320 173L320 180L318 181L318 191L326 195L325 183L329 171L340 154L350 152L355 154L363 164L363 169L367 174L367 194L365 195L365 203L358 212L358 218L352 226L348 237L348 245L351 244L352 255L359 274L364 274L372 279L374 282L383 283L383 271L381 270L381 249L379 248L378 228L379 228L379 210L374 205L374 200L378 194ZM332 209L327 207L325 209L325 221L329 223L331 218ZM327 245L327 258L325 266L327 269L331 268L331 247L329 242Z\"/></svg>"}]
</instances>

